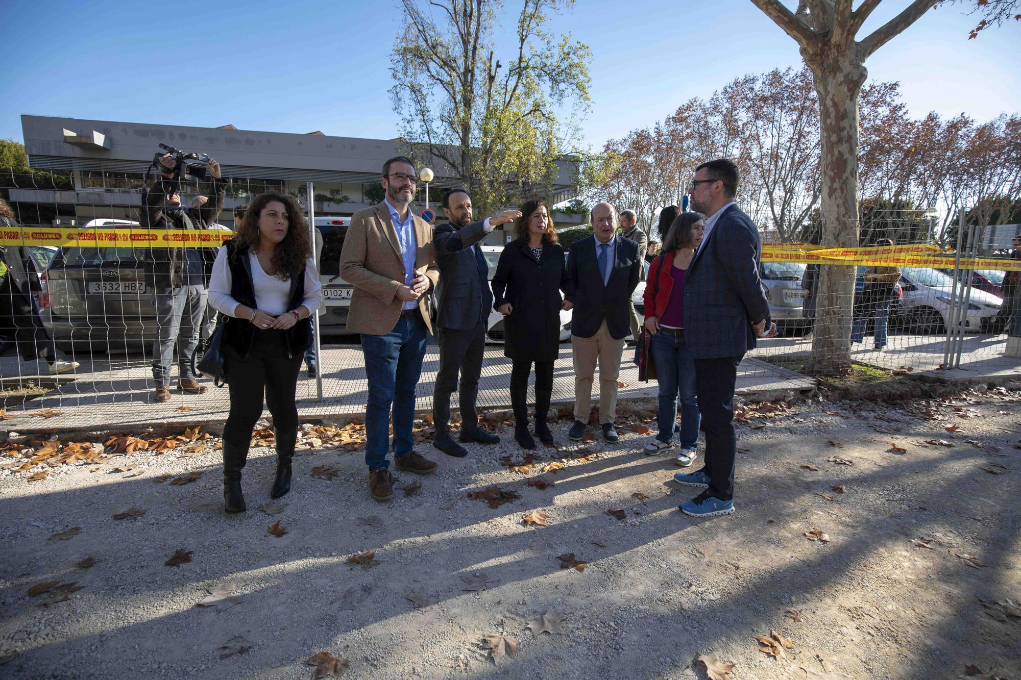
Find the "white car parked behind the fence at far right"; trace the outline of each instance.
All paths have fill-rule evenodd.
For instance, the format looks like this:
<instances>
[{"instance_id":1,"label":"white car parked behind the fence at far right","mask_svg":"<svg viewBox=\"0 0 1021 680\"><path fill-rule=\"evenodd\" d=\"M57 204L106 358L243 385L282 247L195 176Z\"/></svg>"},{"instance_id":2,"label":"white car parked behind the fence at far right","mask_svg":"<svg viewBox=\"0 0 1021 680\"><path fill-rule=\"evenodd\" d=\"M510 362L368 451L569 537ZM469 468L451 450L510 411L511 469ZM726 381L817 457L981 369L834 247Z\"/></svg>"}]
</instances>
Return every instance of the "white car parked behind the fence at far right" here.
<instances>
[{"instance_id":1,"label":"white car parked behind the fence at far right","mask_svg":"<svg viewBox=\"0 0 1021 680\"><path fill-rule=\"evenodd\" d=\"M910 333L945 333L951 325L954 280L941 272L921 266L902 268L901 274L904 304L897 309L895 321ZM963 300L960 290L959 297ZM972 288L967 313L961 322L964 330L972 333L987 332L1002 302L995 295Z\"/></svg>"}]
</instances>

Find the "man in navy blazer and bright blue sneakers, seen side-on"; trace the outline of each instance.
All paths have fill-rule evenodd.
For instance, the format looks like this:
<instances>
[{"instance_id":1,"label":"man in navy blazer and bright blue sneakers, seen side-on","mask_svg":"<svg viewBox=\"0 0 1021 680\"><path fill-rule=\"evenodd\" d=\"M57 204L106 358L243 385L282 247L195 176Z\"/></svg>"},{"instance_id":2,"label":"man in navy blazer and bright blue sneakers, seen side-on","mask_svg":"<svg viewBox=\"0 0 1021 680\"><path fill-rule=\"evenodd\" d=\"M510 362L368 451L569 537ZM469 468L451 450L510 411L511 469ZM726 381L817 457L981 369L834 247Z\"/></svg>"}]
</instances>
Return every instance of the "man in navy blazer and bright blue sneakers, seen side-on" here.
<instances>
[{"instance_id":1,"label":"man in navy blazer and bright blue sneakers, seen side-on","mask_svg":"<svg viewBox=\"0 0 1021 680\"><path fill-rule=\"evenodd\" d=\"M734 512L737 365L755 348L757 337L776 335L759 279L759 230L734 203L737 182L737 166L718 159L699 165L688 188L691 208L709 215L706 235L684 278L684 334L695 363L706 464L674 479L706 489L680 504L692 517Z\"/></svg>"}]
</instances>

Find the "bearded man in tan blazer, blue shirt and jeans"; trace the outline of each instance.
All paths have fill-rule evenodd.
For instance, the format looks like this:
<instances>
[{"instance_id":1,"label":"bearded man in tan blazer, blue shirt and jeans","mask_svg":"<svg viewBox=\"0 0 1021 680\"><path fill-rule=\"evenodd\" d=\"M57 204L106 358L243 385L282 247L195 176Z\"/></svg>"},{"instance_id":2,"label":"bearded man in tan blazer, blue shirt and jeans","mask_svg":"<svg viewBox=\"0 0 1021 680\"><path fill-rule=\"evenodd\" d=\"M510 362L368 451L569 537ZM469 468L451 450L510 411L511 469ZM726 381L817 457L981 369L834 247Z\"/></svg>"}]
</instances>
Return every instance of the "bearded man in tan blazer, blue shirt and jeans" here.
<instances>
[{"instance_id":1,"label":"bearded man in tan blazer, blue shirt and jeans","mask_svg":"<svg viewBox=\"0 0 1021 680\"><path fill-rule=\"evenodd\" d=\"M411 450L411 425L426 334L433 331L428 293L439 281L439 269L433 230L409 206L418 182L410 159L386 161L381 182L386 199L351 217L340 253L340 276L354 287L347 328L361 335L369 379L369 492L376 500L389 500L391 406L394 467L418 475L436 472L435 463Z\"/></svg>"}]
</instances>

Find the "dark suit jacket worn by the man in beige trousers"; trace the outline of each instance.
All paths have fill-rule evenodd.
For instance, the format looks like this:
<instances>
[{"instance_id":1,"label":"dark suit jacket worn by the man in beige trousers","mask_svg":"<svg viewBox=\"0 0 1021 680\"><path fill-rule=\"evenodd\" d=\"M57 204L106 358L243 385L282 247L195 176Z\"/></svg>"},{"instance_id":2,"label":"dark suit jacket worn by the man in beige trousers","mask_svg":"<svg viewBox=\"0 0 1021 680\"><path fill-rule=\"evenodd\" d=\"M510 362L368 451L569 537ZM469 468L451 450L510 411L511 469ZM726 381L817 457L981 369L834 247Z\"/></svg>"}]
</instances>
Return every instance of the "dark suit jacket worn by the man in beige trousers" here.
<instances>
[{"instance_id":1,"label":"dark suit jacket worn by the man in beige trousers","mask_svg":"<svg viewBox=\"0 0 1021 680\"><path fill-rule=\"evenodd\" d=\"M620 340L631 332L631 294L638 286L642 268L638 246L621 236L614 236L614 265L610 280L603 285L596 256L596 240L589 236L571 244L570 266L575 291L568 295L574 302L571 312L571 333L579 338L591 338L606 322L610 335Z\"/></svg>"}]
</instances>

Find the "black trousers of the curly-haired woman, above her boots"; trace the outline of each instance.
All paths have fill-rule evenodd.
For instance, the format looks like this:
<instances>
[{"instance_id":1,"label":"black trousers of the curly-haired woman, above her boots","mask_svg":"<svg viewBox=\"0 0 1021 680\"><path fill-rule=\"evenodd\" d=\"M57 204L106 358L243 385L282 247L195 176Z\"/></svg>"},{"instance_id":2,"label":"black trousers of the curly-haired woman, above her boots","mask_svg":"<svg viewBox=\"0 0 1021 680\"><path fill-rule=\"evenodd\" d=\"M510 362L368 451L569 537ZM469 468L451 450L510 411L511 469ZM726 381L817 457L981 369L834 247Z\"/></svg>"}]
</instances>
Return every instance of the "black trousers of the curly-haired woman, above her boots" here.
<instances>
[{"instance_id":1,"label":"black trousers of the curly-haired woman, above her boots","mask_svg":"<svg viewBox=\"0 0 1021 680\"><path fill-rule=\"evenodd\" d=\"M287 356L283 331L256 331L248 356L242 358L225 345L227 386L231 393L231 412L224 427L224 439L232 444L247 445L265 405L273 415L273 427L290 432L298 427L298 406L294 394L298 371L304 354Z\"/></svg>"}]
</instances>

